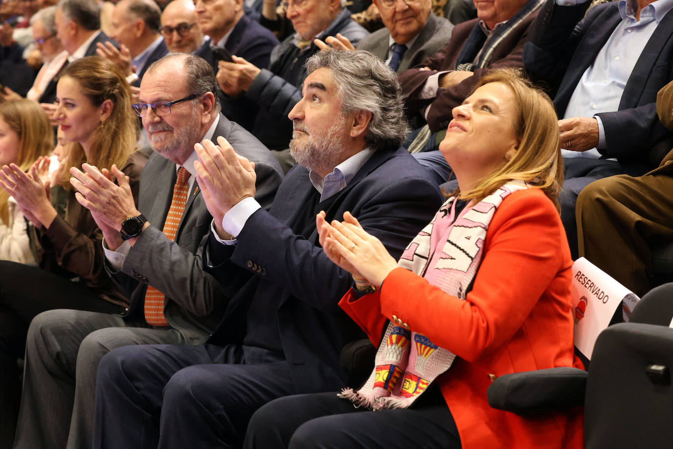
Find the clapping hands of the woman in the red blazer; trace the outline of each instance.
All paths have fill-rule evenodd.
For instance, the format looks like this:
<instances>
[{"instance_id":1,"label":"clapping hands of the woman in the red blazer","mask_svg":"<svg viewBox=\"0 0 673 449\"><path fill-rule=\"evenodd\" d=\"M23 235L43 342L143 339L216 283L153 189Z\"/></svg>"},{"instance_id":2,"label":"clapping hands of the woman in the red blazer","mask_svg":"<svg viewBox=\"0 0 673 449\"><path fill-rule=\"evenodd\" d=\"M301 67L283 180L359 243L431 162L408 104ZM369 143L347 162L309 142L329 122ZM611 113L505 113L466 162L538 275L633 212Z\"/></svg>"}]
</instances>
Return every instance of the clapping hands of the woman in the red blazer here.
<instances>
[{"instance_id":1,"label":"clapping hands of the woman in the red blazer","mask_svg":"<svg viewBox=\"0 0 673 449\"><path fill-rule=\"evenodd\" d=\"M350 212L343 214L344 221L341 222L320 223L320 219L324 221L324 215L318 214L316 224L325 254L353 277L366 279L378 288L388 273L397 268L397 261L381 240L367 234Z\"/></svg>"}]
</instances>

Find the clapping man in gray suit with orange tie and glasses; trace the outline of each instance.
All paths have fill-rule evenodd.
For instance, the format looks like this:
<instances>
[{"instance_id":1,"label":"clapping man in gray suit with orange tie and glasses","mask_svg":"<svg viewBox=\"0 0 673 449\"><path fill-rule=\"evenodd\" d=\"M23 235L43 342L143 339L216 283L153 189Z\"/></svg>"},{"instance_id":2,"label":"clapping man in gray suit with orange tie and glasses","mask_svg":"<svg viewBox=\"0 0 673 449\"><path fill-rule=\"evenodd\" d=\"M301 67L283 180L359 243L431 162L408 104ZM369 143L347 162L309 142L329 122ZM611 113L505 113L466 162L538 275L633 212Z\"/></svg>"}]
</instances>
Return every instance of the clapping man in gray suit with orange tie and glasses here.
<instances>
[{"instance_id":1,"label":"clapping man in gray suit with orange tie and glasses","mask_svg":"<svg viewBox=\"0 0 673 449\"><path fill-rule=\"evenodd\" d=\"M255 198L270 207L281 171L269 150L219 113L210 65L168 55L147 69L140 102L154 150L141 177L138 209L123 174L72 169L71 183L104 235L105 268L131 300L125 316L50 310L28 331L18 447L90 448L98 361L120 345L203 343L222 317L225 292L203 271L211 226L196 180L194 144L222 136L254 162ZM250 275L238 270L240 282ZM73 407L72 416L63 413ZM69 429L69 430L68 430Z\"/></svg>"}]
</instances>

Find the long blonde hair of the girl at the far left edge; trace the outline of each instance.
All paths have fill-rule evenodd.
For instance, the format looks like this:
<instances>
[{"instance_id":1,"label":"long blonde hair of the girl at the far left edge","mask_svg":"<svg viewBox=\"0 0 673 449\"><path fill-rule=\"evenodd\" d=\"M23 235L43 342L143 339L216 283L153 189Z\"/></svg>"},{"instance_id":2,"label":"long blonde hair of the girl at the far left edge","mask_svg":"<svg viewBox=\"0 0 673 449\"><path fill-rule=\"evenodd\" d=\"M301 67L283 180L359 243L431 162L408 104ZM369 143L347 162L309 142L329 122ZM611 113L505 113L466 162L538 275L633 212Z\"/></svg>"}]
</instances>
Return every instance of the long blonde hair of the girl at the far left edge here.
<instances>
[{"instance_id":1,"label":"long blonde hair of the girl at the far left edge","mask_svg":"<svg viewBox=\"0 0 673 449\"><path fill-rule=\"evenodd\" d=\"M15 164L24 172L54 147L54 131L49 125L49 118L36 102L25 98L3 102L0 104L0 117L19 137L20 148ZM5 224L9 223L7 199L9 194L0 189L0 219Z\"/></svg>"}]
</instances>

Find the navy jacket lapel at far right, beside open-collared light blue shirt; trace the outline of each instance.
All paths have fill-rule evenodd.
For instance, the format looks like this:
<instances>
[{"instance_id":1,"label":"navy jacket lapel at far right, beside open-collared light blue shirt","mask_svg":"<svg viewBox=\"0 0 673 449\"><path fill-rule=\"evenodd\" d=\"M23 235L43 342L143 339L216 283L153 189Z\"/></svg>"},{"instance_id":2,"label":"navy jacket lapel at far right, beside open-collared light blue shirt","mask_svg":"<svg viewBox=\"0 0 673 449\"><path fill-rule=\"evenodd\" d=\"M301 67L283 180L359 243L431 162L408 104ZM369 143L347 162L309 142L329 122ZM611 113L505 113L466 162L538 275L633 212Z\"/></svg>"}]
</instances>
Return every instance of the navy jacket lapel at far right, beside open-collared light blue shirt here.
<instances>
[{"instance_id":1,"label":"navy jacket lapel at far right, beside open-collared light blue shirt","mask_svg":"<svg viewBox=\"0 0 673 449\"><path fill-rule=\"evenodd\" d=\"M645 90L645 85L650 79L650 73L654 67L657 59L662 53L664 44L673 34L673 10L668 11L657 28L654 30L652 36L645 44L643 53L640 54L635 67L629 76L629 81L625 85L622 99L619 102L619 110L635 108L638 105L638 100Z\"/></svg>"}]
</instances>

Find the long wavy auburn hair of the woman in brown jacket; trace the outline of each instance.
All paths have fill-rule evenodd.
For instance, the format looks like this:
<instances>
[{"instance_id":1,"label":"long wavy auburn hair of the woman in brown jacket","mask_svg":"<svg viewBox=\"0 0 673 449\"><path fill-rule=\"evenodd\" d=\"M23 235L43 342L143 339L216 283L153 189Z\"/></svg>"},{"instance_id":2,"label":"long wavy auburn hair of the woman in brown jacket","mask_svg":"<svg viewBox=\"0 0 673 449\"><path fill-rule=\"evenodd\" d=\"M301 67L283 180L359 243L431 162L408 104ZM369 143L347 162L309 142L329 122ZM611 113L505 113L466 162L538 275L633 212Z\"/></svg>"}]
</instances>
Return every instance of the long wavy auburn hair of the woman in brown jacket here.
<instances>
[{"instance_id":1,"label":"long wavy auburn hair of the woman in brown jacket","mask_svg":"<svg viewBox=\"0 0 673 449\"><path fill-rule=\"evenodd\" d=\"M131 153L137 149L138 118L131 108L131 88L124 74L110 60L90 56L71 63L62 77L77 81L79 90L96 107L105 100L112 101L112 113L94 131L95 139L90 157L78 142L64 145L65 158L59 167L59 185L70 190L70 168L81 168L86 162L99 169L116 164L121 170Z\"/></svg>"}]
</instances>

